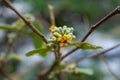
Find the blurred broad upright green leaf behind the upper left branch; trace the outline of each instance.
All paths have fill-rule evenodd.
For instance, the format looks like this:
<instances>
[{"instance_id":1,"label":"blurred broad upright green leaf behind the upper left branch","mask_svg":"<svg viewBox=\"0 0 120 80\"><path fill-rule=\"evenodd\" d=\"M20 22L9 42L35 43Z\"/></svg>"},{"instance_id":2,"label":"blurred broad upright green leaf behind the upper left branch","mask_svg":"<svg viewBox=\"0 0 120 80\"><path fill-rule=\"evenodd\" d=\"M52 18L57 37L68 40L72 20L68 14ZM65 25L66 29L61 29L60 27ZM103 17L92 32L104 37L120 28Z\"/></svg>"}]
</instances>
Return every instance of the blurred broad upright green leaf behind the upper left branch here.
<instances>
[{"instance_id":1,"label":"blurred broad upright green leaf behind the upper left branch","mask_svg":"<svg viewBox=\"0 0 120 80\"><path fill-rule=\"evenodd\" d=\"M43 29L40 25L40 23L38 21L34 21L33 22L33 25L40 31L43 33ZM43 47L44 45L44 42L43 40L36 34L36 33L33 33L32 35L33 37L33 43L34 43L34 46L35 48L40 48L40 47Z\"/></svg>"}]
</instances>

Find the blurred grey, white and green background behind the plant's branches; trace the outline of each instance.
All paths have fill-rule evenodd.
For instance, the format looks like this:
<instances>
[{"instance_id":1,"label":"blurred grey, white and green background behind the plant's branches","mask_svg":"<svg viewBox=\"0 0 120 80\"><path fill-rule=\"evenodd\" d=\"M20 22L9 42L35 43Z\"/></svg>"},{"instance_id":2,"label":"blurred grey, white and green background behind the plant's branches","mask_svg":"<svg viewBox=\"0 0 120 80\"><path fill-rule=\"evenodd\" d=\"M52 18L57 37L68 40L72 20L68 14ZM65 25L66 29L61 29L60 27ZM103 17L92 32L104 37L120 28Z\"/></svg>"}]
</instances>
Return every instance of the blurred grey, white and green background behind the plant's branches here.
<instances>
[{"instance_id":1,"label":"blurred grey, white and green background behind the plant's branches","mask_svg":"<svg viewBox=\"0 0 120 80\"><path fill-rule=\"evenodd\" d=\"M74 27L77 40L81 40L90 26L95 24L109 12L120 5L120 0L10 0L13 6L22 14L31 13L43 27L43 32L48 37L50 16L47 4L54 7L55 22L57 26L67 25ZM18 16L0 2L0 24L12 24ZM8 46L7 34L11 31L0 30L0 56ZM99 26L86 42L102 46L101 50L78 50L67 57L65 61L73 61L93 52L108 49L120 43L120 15L115 15ZM36 80L37 73L49 67L53 61L53 54L43 58L39 55L26 57L25 53L33 50L34 45L31 35L19 37L12 51L19 55L16 61L8 62L5 71L11 73L15 80ZM66 49L63 53L69 51ZM103 59L96 57L78 62L77 66L93 71L93 75L76 77L68 76L68 80L119 80L120 77L120 47L111 50ZM106 64L107 63L107 64ZM12 68L14 66L14 68ZM11 69L12 68L12 69ZM17 73L17 74L16 74ZM5 80L0 76L0 80ZM60 79L58 79L60 80Z\"/></svg>"}]
</instances>

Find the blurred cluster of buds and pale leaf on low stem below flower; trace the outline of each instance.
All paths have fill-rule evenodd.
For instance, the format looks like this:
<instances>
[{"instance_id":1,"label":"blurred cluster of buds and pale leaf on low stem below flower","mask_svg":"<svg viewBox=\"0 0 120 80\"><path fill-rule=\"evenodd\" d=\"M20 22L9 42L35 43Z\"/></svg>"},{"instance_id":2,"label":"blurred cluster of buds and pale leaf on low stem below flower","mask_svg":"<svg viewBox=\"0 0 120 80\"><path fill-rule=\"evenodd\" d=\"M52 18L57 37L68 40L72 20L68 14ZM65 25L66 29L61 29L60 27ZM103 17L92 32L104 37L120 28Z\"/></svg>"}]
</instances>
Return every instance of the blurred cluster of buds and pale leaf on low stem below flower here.
<instances>
[{"instance_id":1,"label":"blurred cluster of buds and pale leaf on low stem below flower","mask_svg":"<svg viewBox=\"0 0 120 80\"><path fill-rule=\"evenodd\" d=\"M93 70L88 68L79 68L75 63L69 65L60 64L49 75L49 79L55 79L60 73L72 74L74 76L93 75Z\"/></svg>"}]
</instances>

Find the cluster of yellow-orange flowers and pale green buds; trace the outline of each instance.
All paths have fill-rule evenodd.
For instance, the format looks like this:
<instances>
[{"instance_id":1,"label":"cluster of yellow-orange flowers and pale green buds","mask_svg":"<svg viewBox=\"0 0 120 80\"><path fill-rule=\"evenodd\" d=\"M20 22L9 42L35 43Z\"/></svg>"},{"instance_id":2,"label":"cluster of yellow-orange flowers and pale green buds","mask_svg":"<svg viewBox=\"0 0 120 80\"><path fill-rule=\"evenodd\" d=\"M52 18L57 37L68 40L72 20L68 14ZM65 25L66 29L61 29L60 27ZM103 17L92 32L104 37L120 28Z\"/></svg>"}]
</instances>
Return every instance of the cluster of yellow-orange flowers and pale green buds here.
<instances>
[{"instance_id":1,"label":"cluster of yellow-orange flowers and pale green buds","mask_svg":"<svg viewBox=\"0 0 120 80\"><path fill-rule=\"evenodd\" d=\"M73 28L68 28L67 26L56 27L52 25L49 29L52 32L52 36L49 41L65 44L75 38L73 35Z\"/></svg>"}]
</instances>

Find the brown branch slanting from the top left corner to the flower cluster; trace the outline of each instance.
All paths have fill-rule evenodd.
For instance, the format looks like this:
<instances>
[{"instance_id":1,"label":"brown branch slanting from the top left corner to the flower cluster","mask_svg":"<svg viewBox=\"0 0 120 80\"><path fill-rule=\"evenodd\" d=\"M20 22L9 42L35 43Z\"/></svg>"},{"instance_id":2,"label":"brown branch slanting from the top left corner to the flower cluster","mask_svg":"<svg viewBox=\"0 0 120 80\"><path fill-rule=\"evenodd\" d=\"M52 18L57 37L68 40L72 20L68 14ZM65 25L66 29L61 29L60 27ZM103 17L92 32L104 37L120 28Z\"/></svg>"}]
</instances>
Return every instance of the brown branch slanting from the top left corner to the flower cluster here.
<instances>
[{"instance_id":1,"label":"brown branch slanting from the top left corner to the flower cluster","mask_svg":"<svg viewBox=\"0 0 120 80\"><path fill-rule=\"evenodd\" d=\"M5 3L5 5L10 8L11 10L13 10L25 23L26 25L28 25L33 32L35 32L37 35L39 35L43 41L45 41L45 43L47 43L47 40L46 38L44 37L44 35L38 30L35 28L35 26L30 22L28 21L27 19L25 19L21 13L19 13L12 5L11 3L9 2L9 0L3 0L3 2Z\"/></svg>"}]
</instances>

